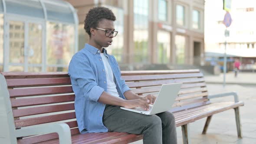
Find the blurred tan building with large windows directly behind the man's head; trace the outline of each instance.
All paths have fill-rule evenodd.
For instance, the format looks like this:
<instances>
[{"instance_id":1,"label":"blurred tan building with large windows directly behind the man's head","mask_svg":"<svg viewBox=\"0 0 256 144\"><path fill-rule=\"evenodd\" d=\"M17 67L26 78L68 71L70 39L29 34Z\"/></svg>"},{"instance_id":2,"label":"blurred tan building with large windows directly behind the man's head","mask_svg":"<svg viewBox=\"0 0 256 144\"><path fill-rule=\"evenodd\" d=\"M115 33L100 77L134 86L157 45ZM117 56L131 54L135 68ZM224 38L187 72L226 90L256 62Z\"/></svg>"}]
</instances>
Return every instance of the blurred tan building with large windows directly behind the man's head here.
<instances>
[{"instance_id":1,"label":"blurred tan building with large windows directly behind the man's head","mask_svg":"<svg viewBox=\"0 0 256 144\"><path fill-rule=\"evenodd\" d=\"M66 0L79 17L79 49L88 43L85 15L110 8L118 36L107 48L119 64L203 65L204 0Z\"/></svg>"}]
</instances>

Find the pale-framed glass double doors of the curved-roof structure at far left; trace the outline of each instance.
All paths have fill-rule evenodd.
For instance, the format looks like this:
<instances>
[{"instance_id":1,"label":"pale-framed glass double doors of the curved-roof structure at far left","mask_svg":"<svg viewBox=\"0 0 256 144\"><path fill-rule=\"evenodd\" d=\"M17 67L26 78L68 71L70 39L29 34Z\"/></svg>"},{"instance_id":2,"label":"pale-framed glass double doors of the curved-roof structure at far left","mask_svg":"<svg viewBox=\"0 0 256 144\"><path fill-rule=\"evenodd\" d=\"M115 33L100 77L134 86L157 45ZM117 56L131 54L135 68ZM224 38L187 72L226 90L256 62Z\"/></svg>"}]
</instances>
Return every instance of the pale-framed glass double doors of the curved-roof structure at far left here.
<instances>
[{"instance_id":1,"label":"pale-framed glass double doors of the curved-roof structure at far left","mask_svg":"<svg viewBox=\"0 0 256 144\"><path fill-rule=\"evenodd\" d=\"M8 17L7 71L42 72L43 22Z\"/></svg>"}]
</instances>

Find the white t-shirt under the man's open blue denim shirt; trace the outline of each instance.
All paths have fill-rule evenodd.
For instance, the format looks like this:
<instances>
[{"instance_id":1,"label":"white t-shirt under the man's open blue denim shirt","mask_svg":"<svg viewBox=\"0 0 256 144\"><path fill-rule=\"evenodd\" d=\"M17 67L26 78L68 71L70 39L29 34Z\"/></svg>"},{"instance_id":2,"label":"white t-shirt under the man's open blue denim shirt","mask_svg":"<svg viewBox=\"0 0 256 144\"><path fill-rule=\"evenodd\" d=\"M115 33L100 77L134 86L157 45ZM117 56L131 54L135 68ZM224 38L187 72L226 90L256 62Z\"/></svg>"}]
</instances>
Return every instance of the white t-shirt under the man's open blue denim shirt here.
<instances>
[{"instance_id":1,"label":"white t-shirt under the man's open blue denim shirt","mask_svg":"<svg viewBox=\"0 0 256 144\"><path fill-rule=\"evenodd\" d=\"M105 56L104 53L101 53L100 55L104 63L104 67L105 67L104 72L106 73L106 77L107 77L107 89L108 89L107 91L110 95L119 97L119 94L117 92L116 85L115 85L115 77L112 72L111 66L109 64L108 57Z\"/></svg>"}]
</instances>

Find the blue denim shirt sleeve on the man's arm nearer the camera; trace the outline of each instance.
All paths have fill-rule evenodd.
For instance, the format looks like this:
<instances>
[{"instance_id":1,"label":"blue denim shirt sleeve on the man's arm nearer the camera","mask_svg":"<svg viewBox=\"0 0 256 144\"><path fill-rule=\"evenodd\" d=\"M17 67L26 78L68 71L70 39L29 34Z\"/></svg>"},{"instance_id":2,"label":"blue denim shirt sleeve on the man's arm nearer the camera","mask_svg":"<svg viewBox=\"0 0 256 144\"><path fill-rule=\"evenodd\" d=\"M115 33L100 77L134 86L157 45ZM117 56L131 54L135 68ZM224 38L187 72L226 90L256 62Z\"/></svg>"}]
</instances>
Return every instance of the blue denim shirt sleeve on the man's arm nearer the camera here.
<instances>
[{"instance_id":1,"label":"blue denim shirt sleeve on the man's arm nearer the camera","mask_svg":"<svg viewBox=\"0 0 256 144\"><path fill-rule=\"evenodd\" d=\"M85 57L75 55L69 63L69 75L73 86L82 90L82 95L91 101L98 101L104 92L104 88L98 86L95 73ZM77 85L73 85L73 83Z\"/></svg>"}]
</instances>

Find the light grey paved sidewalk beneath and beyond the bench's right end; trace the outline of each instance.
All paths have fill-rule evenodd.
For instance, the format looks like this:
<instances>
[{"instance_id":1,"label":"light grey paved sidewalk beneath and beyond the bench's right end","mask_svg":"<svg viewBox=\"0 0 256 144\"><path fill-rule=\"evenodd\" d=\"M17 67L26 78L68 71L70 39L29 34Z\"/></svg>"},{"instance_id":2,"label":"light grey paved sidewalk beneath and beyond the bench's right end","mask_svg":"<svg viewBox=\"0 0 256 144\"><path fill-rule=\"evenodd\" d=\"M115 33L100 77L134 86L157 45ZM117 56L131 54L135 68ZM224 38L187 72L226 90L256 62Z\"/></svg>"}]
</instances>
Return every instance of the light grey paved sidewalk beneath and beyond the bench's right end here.
<instances>
[{"instance_id":1,"label":"light grey paved sidewalk beneath and beyond the bench's right end","mask_svg":"<svg viewBox=\"0 0 256 144\"><path fill-rule=\"evenodd\" d=\"M234 110L215 114L210 122L207 134L202 135L206 118L190 123L191 144L256 144L256 86L207 84L210 95L223 92L237 92L240 107L243 139L237 137ZM214 101L233 101L233 97L215 98ZM183 144L181 127L177 128L178 144Z\"/></svg>"}]
</instances>

